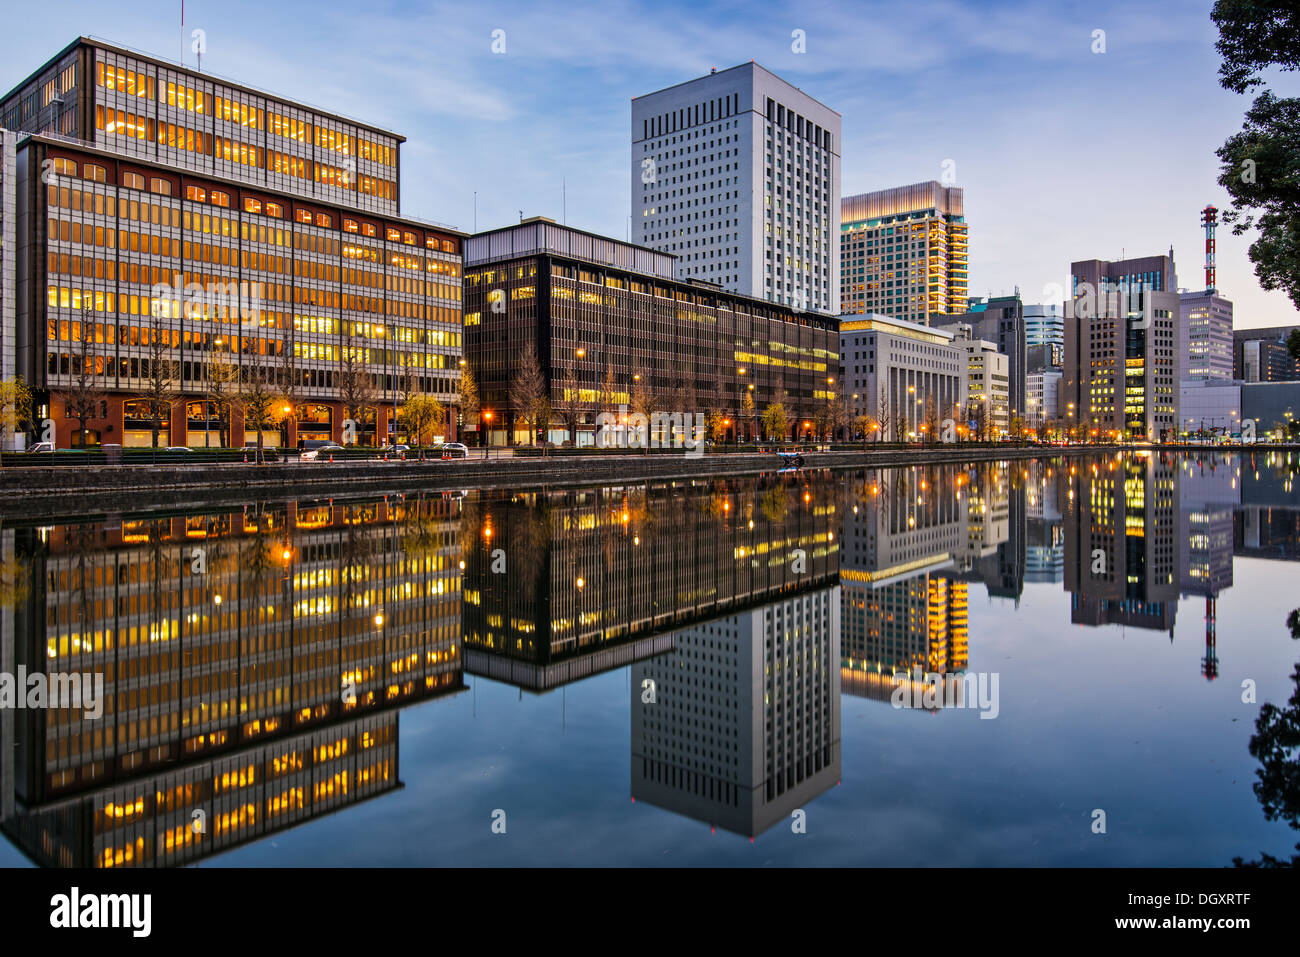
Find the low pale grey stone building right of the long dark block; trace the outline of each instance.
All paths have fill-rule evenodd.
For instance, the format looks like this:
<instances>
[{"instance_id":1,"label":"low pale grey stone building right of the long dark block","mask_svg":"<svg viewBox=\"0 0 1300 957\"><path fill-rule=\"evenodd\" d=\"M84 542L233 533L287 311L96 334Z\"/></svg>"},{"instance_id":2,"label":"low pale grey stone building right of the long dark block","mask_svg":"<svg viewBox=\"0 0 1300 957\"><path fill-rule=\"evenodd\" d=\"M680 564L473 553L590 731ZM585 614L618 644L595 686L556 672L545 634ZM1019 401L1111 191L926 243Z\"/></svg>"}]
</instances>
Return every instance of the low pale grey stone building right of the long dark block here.
<instances>
[{"instance_id":1,"label":"low pale grey stone building right of the long dark block","mask_svg":"<svg viewBox=\"0 0 1300 957\"><path fill-rule=\"evenodd\" d=\"M944 420L961 423L966 367L945 329L880 315L840 319L840 391L883 441L935 438Z\"/></svg>"}]
</instances>

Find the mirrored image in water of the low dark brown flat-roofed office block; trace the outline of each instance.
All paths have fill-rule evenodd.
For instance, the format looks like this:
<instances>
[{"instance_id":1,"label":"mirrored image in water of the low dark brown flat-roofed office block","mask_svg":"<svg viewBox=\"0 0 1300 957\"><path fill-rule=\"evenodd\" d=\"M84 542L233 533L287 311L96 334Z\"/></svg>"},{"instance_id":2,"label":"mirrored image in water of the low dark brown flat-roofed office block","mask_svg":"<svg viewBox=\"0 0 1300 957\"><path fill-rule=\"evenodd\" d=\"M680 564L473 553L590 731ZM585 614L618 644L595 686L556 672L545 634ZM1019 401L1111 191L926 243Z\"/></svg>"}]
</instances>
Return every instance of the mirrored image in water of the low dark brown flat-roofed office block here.
<instances>
[{"instance_id":1,"label":"mirrored image in water of the low dark brown flat-roofed office block","mask_svg":"<svg viewBox=\"0 0 1300 957\"><path fill-rule=\"evenodd\" d=\"M471 495L469 674L546 690L672 648L675 629L835 581L818 473Z\"/></svg>"}]
</instances>

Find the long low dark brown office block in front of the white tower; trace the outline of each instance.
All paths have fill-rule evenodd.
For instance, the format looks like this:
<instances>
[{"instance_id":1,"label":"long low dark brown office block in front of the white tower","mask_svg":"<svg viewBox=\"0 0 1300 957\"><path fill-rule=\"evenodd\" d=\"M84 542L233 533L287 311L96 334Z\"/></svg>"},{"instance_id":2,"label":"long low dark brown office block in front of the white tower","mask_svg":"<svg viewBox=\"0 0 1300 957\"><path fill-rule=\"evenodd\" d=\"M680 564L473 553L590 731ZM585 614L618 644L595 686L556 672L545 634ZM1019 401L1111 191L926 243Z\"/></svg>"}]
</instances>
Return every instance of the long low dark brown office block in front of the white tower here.
<instances>
[{"instance_id":1,"label":"long low dark brown office block in front of the white tower","mask_svg":"<svg viewBox=\"0 0 1300 957\"><path fill-rule=\"evenodd\" d=\"M780 400L786 437L806 434L835 390L835 317L675 280L673 263L671 254L541 217L471 237L465 358L484 413L493 413L490 441L526 443L529 429L546 428L511 404L529 348L556 442L592 442L598 412L624 404L716 408L728 437L754 437L763 411Z\"/></svg>"}]
</instances>

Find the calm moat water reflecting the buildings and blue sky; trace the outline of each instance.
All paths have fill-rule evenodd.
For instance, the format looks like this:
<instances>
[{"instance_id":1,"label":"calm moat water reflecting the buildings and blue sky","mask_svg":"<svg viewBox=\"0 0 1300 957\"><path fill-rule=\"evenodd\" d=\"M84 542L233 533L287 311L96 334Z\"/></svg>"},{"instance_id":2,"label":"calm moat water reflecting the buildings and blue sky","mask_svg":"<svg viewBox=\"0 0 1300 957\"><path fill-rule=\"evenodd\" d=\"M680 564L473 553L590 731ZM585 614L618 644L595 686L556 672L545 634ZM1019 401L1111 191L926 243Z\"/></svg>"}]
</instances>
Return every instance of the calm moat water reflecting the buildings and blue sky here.
<instances>
[{"instance_id":1,"label":"calm moat water reflecting the buildings and blue sky","mask_svg":"<svg viewBox=\"0 0 1300 957\"><path fill-rule=\"evenodd\" d=\"M1287 857L1249 742L1295 690L1297 468L10 519L0 671L100 672L116 700L0 710L0 863ZM970 693L927 702L927 674Z\"/></svg>"}]
</instances>

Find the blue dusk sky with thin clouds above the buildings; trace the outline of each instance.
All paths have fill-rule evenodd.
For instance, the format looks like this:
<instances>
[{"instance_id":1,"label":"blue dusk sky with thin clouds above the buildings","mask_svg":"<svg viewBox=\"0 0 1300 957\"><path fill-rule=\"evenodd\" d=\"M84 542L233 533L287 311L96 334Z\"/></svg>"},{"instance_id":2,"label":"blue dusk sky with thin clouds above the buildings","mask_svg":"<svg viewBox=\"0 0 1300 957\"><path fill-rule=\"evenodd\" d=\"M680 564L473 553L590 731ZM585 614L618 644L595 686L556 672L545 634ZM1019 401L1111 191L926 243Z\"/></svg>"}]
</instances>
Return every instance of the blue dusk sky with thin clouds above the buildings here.
<instances>
[{"instance_id":1,"label":"blue dusk sky with thin clouds above the buildings","mask_svg":"<svg viewBox=\"0 0 1300 957\"><path fill-rule=\"evenodd\" d=\"M204 72L404 135L406 216L468 231L523 212L627 238L632 98L753 59L841 113L845 195L940 179L950 161L971 295L1032 303L1058 300L1071 261L1170 247L1179 285L1204 287L1200 211L1227 205L1214 150L1249 105L1218 85L1210 7L190 0L182 34L179 3L65 0L6 18L0 87L78 34L194 66L202 29ZM1296 74L1270 83L1300 94ZM1295 324L1260 289L1251 238L1219 228L1236 326Z\"/></svg>"}]
</instances>

